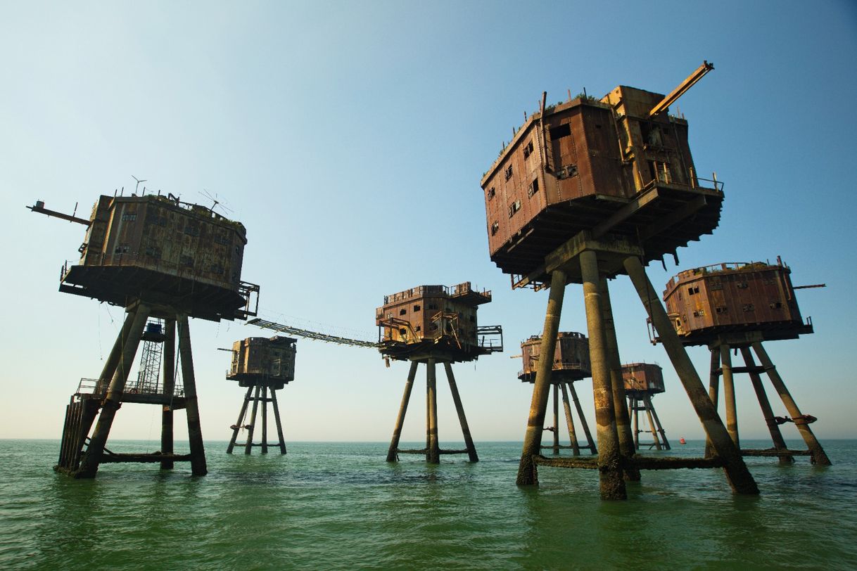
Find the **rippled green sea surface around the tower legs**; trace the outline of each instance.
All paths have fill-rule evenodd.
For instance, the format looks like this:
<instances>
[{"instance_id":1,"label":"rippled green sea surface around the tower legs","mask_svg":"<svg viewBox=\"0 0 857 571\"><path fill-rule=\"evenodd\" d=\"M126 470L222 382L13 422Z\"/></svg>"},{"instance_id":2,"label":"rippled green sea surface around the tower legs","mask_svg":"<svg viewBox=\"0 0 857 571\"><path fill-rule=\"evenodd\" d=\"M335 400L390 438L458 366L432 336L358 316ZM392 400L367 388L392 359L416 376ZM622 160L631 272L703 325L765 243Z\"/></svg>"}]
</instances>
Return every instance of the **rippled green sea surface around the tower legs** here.
<instances>
[{"instance_id":1,"label":"rippled green sea surface around the tower legs","mask_svg":"<svg viewBox=\"0 0 857 571\"><path fill-rule=\"evenodd\" d=\"M207 442L203 478L182 462L103 465L87 481L53 472L58 441L0 440L0 568L854 569L857 440L822 444L832 467L747 458L758 497L735 496L720 470L669 470L610 503L591 470L542 467L538 488L517 487L520 443L476 443L477 463L429 466L388 464L387 443L245 456Z\"/></svg>"}]
</instances>

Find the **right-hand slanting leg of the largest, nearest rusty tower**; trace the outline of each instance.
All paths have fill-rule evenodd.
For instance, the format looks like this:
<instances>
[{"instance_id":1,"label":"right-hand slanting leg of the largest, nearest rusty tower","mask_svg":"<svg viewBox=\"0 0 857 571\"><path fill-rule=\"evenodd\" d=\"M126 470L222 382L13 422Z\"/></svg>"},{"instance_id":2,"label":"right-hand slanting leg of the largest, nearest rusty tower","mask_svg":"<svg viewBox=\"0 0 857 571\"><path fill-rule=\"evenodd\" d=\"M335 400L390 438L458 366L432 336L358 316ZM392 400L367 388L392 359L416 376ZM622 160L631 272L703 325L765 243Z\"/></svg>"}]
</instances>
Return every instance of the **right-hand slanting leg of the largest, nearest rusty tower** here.
<instances>
[{"instance_id":1,"label":"right-hand slanting leg of the largest, nearest rusty tower","mask_svg":"<svg viewBox=\"0 0 857 571\"><path fill-rule=\"evenodd\" d=\"M732 438L729 437L720 416L717 415L710 396L705 392L702 381L699 379L696 369L693 368L693 363L687 356L687 352L667 316L667 311L663 308L649 277L645 275L643 264L640 263L639 259L630 257L625 259L624 265L634 288L637 289L640 300L646 308L646 312L652 320L652 324L655 325L663 348L667 351L669 360L685 388L687 397L690 399L705 433L710 437L712 446L724 463L729 485L740 494L758 494L756 481L752 478L750 471L747 470L744 459L741 458L740 450L732 442Z\"/></svg>"}]
</instances>

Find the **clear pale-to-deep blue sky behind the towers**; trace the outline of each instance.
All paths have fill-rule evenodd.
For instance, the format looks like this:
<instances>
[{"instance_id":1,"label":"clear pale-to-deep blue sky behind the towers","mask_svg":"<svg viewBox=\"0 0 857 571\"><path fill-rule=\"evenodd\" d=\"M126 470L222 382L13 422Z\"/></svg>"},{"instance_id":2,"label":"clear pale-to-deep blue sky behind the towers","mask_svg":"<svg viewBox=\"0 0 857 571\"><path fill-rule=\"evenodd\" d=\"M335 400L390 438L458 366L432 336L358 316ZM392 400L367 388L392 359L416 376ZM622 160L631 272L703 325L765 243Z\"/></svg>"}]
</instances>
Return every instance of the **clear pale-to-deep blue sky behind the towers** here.
<instances>
[{"instance_id":1,"label":"clear pale-to-deep blue sky behind the towers","mask_svg":"<svg viewBox=\"0 0 857 571\"><path fill-rule=\"evenodd\" d=\"M261 284L261 317L375 338L384 294L492 290L479 320L503 325L506 352L454 368L476 441L523 438L531 387L510 356L541 333L548 295L512 291L488 259L482 172L542 91L548 102L620 84L665 93L704 59L715 71L678 106L698 172L725 181L722 221L650 279L661 289L687 268L782 255L796 285L827 283L799 292L816 333L767 348L818 437L857 437L854 3L0 2L0 54L0 437L58 438L123 319L57 291L84 228L24 206L79 202L86 216L135 175L225 201L248 230L243 279ZM654 403L668 436L702 437L627 278L611 288L622 360L665 366ZM579 286L561 330L585 331ZM191 333L203 435L225 440L243 390L217 348L269 333L201 320ZM407 364L297 348L297 378L279 394L286 438L388 440ZM706 378L707 351L690 353ZM764 437L746 376L738 385L742 436ZM576 386L593 423L590 381ZM446 384L439 395L440 439L460 440ZM405 440L424 437L422 396ZM157 441L157 407L124 406L111 436Z\"/></svg>"}]
</instances>

